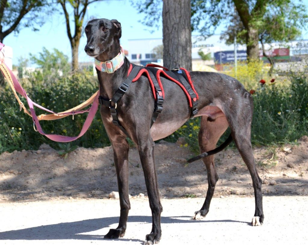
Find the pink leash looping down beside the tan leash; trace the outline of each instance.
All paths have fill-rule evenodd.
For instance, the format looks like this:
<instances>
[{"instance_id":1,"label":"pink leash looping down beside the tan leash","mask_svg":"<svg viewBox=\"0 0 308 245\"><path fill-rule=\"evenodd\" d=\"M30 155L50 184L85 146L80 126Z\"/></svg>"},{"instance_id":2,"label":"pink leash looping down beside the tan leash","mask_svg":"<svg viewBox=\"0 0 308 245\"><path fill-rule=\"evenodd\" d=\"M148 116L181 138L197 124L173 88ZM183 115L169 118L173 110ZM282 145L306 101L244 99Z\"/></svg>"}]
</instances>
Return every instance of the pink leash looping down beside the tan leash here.
<instances>
[{"instance_id":1,"label":"pink leash looping down beside the tan leash","mask_svg":"<svg viewBox=\"0 0 308 245\"><path fill-rule=\"evenodd\" d=\"M4 44L0 43L0 51L2 50L2 48L4 47ZM40 108L42 110L45 110L47 112L50 112L50 113L56 113L56 112L53 112L51 110L48 110L46 108L44 108L43 106L40 106L36 103L34 103L28 96L27 96L27 93L26 91L22 88L22 86L19 84L18 80L16 79L16 77L14 76L13 72L8 68L6 67L6 69L10 72L10 75L12 77L12 80L13 80L13 83L14 83L14 88L15 90L24 98L26 98L27 100L27 103L29 105L29 108L30 108L30 112L31 112L31 115L32 115L32 119L33 119L33 122L37 128L37 131L40 133L40 134L43 134L45 135L47 138L53 140L53 141L58 141L58 142L70 142L70 141L74 141L76 139L78 139L79 137L83 136L84 133L86 133L86 131L88 130L88 128L90 127L92 121L93 121L93 118L96 114L96 111L97 111L97 108L98 108L98 97L99 97L99 93L97 93L97 96L95 97L95 100L93 101L93 104L91 105L91 108L87 109L87 110L82 110L82 111L75 111L75 112L66 112L66 113L58 113L58 114L61 114L61 115L65 115L65 114L70 114L70 115L76 115L76 114L80 114L80 113L84 113L84 112L89 112L88 116L87 116L87 119L86 121L84 122L83 124L83 127L79 133L78 136L75 136L75 137L72 137L72 136L63 136L63 135L59 135L59 134L46 134L44 133L41 125L39 124L39 119L38 117L36 116L35 114L35 110L34 110L34 106L36 106L37 108ZM3 74L3 72L2 72ZM3 74L3 76L5 76L5 74ZM57 114L57 113L56 113Z\"/></svg>"}]
</instances>

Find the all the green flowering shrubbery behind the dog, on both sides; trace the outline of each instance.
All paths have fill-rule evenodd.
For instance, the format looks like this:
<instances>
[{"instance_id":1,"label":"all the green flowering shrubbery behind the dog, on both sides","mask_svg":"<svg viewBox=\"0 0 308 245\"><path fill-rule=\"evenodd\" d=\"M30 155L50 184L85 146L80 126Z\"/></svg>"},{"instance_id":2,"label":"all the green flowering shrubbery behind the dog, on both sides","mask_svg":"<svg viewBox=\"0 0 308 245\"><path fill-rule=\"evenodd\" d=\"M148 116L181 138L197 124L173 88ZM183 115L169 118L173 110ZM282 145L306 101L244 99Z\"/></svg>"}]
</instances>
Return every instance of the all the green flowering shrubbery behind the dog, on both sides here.
<instances>
[{"instance_id":1,"label":"all the green flowering shrubbery behind the dog, on both sides","mask_svg":"<svg viewBox=\"0 0 308 245\"><path fill-rule=\"evenodd\" d=\"M53 74L54 67L44 67L44 62L39 63L37 59L37 63L42 65L40 70L20 81L33 101L53 111L61 112L82 103L97 91L96 76L86 72L70 74L65 66L67 57L63 57L63 54L58 51L50 55L52 60L60 60L64 64L65 74L63 73L63 76L60 76L59 72L56 72L56 75ZM286 143L308 135L307 72L307 66L301 72L292 68L292 72L287 73L286 76L275 77L275 81L270 82L272 78L263 70L261 62L249 65L242 63L237 67L237 79L253 93L254 113L251 135L254 145ZM228 72L228 75L234 76L234 71ZM261 79L265 84L262 85L259 82ZM57 142L50 141L34 131L32 118L19 111L19 105L9 87L0 88L0 98L0 152L38 149L42 143L59 149ZM25 100L22 101L26 104ZM37 115L40 113L44 112L38 109ZM87 113L76 115L75 120L68 116L55 121L41 121L41 125L45 133L77 136L86 116ZM180 136L185 137L187 144L184 146L190 147L197 153L199 128L200 118L188 120L178 131L167 137L167 140L176 141ZM219 144L228 135L229 129ZM74 141L73 145L84 147L110 145L99 113L96 114L87 133Z\"/></svg>"}]
</instances>

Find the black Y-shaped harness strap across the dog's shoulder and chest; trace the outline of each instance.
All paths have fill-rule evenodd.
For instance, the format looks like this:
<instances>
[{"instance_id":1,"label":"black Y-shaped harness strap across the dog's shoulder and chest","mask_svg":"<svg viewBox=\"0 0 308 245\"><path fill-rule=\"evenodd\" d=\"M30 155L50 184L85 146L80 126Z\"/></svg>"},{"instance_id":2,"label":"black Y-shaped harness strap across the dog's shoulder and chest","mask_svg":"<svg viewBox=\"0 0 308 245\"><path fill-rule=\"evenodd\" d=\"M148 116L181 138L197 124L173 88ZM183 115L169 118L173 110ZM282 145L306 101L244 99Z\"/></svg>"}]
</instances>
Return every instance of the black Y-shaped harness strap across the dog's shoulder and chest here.
<instances>
[{"instance_id":1,"label":"black Y-shaped harness strap across the dog's shoulder and chest","mask_svg":"<svg viewBox=\"0 0 308 245\"><path fill-rule=\"evenodd\" d=\"M102 96L99 96L99 102L100 104L103 104L104 106L109 107L110 114L112 117L112 123L116 126L118 126L127 137L130 138L128 132L124 127L121 125L118 114L116 111L117 102L122 98L122 96L126 93L129 85L132 83L132 80L137 76L138 72L140 71L140 66L133 65L132 71L129 73L128 77L125 79L124 83L121 84L121 86L118 88L118 90L115 92L114 96L111 98L111 100L106 100ZM115 105L112 106L111 102L113 102Z\"/></svg>"}]
</instances>

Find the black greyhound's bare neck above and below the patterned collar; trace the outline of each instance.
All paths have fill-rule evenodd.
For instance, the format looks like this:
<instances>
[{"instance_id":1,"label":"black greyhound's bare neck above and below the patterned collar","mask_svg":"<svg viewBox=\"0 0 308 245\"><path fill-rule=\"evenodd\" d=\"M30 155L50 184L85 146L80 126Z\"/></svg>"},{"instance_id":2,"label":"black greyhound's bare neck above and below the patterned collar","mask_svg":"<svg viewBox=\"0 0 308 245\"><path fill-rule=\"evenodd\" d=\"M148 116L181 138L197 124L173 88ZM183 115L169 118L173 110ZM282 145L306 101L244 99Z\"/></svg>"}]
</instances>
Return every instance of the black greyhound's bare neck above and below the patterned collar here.
<instances>
[{"instance_id":1,"label":"black greyhound's bare neck above and below the patterned collar","mask_svg":"<svg viewBox=\"0 0 308 245\"><path fill-rule=\"evenodd\" d=\"M96 59L102 62L113 59L118 55L120 49L120 42L115 42L106 51L97 56ZM113 73L102 72L96 69L101 96L105 99L112 98L127 77L129 64L128 59L124 58L124 64Z\"/></svg>"}]
</instances>

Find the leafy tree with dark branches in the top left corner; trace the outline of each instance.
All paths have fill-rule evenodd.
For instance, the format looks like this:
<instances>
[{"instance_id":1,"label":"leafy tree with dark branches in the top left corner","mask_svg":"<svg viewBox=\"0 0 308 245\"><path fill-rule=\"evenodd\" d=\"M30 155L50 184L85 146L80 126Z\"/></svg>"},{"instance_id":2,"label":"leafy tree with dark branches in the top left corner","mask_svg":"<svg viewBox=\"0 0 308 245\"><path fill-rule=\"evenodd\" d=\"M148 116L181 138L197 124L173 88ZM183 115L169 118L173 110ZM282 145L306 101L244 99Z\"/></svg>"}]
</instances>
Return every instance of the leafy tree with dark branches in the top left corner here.
<instances>
[{"instance_id":1,"label":"leafy tree with dark branches in the top left corner","mask_svg":"<svg viewBox=\"0 0 308 245\"><path fill-rule=\"evenodd\" d=\"M0 42L10 33L19 32L22 27L38 31L43 25L43 8L50 6L47 0L1 0Z\"/></svg>"}]
</instances>

